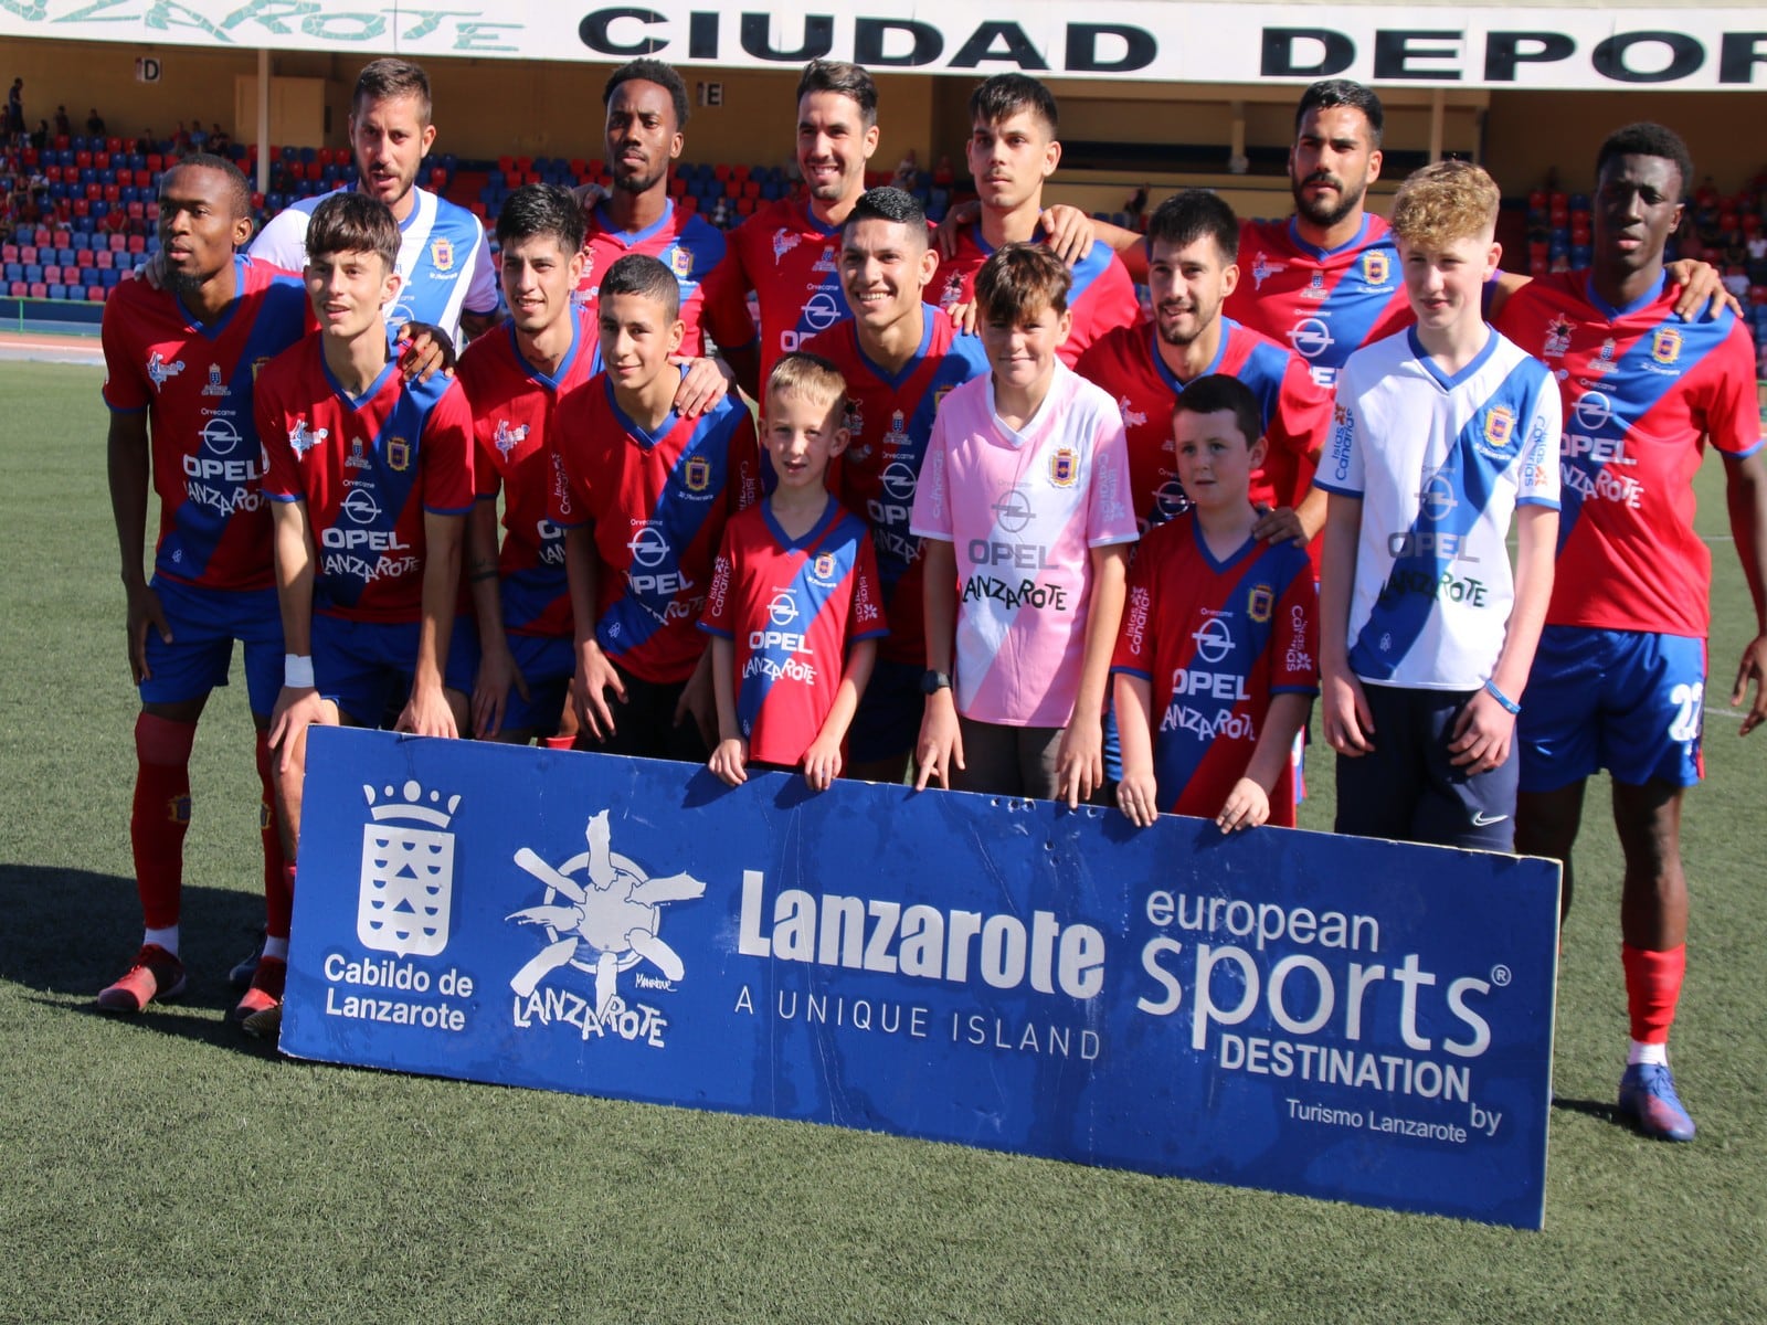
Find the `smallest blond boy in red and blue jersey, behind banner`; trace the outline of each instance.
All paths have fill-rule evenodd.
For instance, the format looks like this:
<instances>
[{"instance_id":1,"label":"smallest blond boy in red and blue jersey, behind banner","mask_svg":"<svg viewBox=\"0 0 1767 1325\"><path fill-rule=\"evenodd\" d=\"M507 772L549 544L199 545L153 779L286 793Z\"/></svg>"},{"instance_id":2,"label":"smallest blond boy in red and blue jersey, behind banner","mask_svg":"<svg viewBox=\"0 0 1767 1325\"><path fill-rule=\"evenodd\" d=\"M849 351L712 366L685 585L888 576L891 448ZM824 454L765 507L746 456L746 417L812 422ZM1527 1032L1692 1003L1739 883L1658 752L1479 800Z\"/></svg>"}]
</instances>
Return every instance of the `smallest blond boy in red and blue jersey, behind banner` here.
<instances>
[{"instance_id":1,"label":"smallest blond boy in red and blue jersey, behind banner","mask_svg":"<svg viewBox=\"0 0 1767 1325\"><path fill-rule=\"evenodd\" d=\"M871 535L827 488L845 412L846 383L827 359L788 353L767 376L762 442L779 482L724 530L700 620L717 693L710 768L732 786L753 760L802 768L825 791L889 632Z\"/></svg>"}]
</instances>

